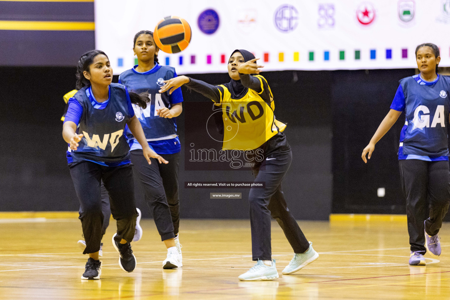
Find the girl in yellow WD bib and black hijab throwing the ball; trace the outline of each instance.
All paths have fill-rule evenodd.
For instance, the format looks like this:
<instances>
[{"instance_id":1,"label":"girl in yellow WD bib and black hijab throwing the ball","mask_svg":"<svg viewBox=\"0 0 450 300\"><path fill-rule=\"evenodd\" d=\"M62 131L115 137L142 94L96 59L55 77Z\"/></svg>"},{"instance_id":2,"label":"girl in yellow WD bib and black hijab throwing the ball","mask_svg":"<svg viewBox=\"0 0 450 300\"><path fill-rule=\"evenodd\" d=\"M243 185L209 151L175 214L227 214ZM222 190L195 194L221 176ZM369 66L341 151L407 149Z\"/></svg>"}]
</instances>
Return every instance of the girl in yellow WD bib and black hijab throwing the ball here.
<instances>
[{"instance_id":1,"label":"girl in yellow WD bib and black hijab throwing the ball","mask_svg":"<svg viewBox=\"0 0 450 300\"><path fill-rule=\"evenodd\" d=\"M291 148L283 134L286 124L275 118L275 103L266 79L259 75L262 66L255 56L236 49L228 61L229 83L210 85L187 76L178 76L162 86L160 93L186 85L214 101L222 109L224 150L254 150L263 159L255 160L255 181L265 188L252 188L248 195L252 229L254 267L239 280L272 280L278 278L270 245L270 216L277 220L294 250L294 257L283 274L302 269L319 257L286 206L281 182L292 161ZM258 156L255 156L255 159Z\"/></svg>"}]
</instances>

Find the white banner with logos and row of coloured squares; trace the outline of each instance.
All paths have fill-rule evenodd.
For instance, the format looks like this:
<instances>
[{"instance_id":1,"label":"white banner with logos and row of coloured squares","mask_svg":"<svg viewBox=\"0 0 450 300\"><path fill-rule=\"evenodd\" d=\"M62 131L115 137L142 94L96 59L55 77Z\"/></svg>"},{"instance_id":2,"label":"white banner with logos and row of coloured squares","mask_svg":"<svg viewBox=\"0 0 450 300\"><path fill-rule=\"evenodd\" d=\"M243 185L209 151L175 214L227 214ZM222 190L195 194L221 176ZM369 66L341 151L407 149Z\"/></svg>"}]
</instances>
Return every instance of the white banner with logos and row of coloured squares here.
<instances>
[{"instance_id":1,"label":"white banner with logos and row of coloured squares","mask_svg":"<svg viewBox=\"0 0 450 300\"><path fill-rule=\"evenodd\" d=\"M178 74L227 72L234 49L261 58L264 71L417 67L421 43L450 66L450 0L95 0L95 45L114 74L133 67L133 37L162 18L186 19L192 40L159 52Z\"/></svg>"}]
</instances>

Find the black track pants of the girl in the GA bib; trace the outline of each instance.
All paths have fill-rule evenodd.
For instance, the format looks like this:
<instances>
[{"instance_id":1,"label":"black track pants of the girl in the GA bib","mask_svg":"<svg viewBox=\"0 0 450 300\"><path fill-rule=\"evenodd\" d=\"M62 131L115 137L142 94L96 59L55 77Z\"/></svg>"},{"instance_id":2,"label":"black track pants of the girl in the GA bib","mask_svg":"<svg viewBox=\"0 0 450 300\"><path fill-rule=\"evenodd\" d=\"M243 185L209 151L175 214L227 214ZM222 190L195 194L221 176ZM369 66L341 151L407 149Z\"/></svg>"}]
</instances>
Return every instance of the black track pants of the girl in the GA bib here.
<instances>
[{"instance_id":1,"label":"black track pants of the girl in the GA bib","mask_svg":"<svg viewBox=\"0 0 450 300\"><path fill-rule=\"evenodd\" d=\"M425 253L424 229L429 235L437 234L449 208L449 162L407 159L399 164L411 251Z\"/></svg>"}]
</instances>

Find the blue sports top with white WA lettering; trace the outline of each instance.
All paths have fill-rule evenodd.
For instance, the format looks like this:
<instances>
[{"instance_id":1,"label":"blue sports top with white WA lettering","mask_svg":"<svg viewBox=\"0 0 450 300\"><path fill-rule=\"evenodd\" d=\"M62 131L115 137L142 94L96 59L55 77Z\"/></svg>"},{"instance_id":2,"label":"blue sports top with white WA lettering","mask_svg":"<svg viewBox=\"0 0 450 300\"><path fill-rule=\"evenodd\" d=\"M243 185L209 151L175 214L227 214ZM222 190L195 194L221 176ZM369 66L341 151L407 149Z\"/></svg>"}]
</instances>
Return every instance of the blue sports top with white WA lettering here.
<instances>
[{"instance_id":1,"label":"blue sports top with white WA lettering","mask_svg":"<svg viewBox=\"0 0 450 300\"><path fill-rule=\"evenodd\" d=\"M172 94L166 91L159 93L165 80L176 77L175 68L161 66L155 63L155 66L147 72L138 72L134 66L126 70L119 76L119 83L125 85L130 91L135 93L148 92L150 94L150 105L146 109L133 104L136 116L141 122L148 145L158 154L173 154L180 152L180 139L176 134L176 118L162 118L158 116L157 109L162 107L171 108L175 103L183 102L181 89L176 89ZM142 149L141 145L127 130L127 136L130 140L130 149Z\"/></svg>"}]
</instances>

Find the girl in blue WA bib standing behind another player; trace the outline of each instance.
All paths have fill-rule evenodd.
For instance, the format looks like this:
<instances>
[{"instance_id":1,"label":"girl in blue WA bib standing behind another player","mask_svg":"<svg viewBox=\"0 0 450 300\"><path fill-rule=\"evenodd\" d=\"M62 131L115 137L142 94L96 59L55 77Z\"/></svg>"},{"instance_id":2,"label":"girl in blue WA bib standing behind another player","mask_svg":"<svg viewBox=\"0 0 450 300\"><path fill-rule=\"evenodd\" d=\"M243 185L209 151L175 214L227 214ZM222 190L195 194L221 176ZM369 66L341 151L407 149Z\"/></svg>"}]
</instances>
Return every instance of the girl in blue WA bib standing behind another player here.
<instances>
[{"instance_id":1,"label":"girl in blue WA bib standing behind another player","mask_svg":"<svg viewBox=\"0 0 450 300\"><path fill-rule=\"evenodd\" d=\"M144 190L145 201L152 210L161 240L167 247L164 269L182 267L181 245L178 238L180 200L178 197L178 161L180 139L176 134L176 116L182 111L181 89L172 94L159 93L165 80L176 77L175 69L158 64L159 49L153 41L152 31L139 31L133 40L133 51L138 64L122 72L119 83L130 91L148 92L150 105L146 108L133 104L136 117L144 130L145 142L170 164L148 165L142 156L141 143L127 130L133 171Z\"/></svg>"}]
</instances>

